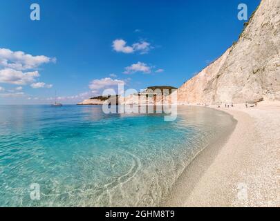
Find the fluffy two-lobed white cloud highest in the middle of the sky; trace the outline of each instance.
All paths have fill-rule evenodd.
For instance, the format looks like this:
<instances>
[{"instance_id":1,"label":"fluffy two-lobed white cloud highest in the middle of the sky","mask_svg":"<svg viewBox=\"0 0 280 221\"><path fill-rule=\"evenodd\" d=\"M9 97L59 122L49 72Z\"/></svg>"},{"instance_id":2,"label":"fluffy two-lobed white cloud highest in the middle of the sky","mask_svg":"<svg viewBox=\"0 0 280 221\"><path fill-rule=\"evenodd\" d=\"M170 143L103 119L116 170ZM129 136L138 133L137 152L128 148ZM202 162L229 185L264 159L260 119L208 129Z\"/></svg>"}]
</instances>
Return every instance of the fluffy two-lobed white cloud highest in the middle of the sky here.
<instances>
[{"instance_id":1,"label":"fluffy two-lobed white cloud highest in the middle of the sky","mask_svg":"<svg viewBox=\"0 0 280 221\"><path fill-rule=\"evenodd\" d=\"M140 41L132 46L127 46L127 41L124 41L123 39L116 39L113 41L113 50L126 54L131 54L136 51L140 52L140 54L146 54L151 48L151 44L147 41Z\"/></svg>"}]
</instances>

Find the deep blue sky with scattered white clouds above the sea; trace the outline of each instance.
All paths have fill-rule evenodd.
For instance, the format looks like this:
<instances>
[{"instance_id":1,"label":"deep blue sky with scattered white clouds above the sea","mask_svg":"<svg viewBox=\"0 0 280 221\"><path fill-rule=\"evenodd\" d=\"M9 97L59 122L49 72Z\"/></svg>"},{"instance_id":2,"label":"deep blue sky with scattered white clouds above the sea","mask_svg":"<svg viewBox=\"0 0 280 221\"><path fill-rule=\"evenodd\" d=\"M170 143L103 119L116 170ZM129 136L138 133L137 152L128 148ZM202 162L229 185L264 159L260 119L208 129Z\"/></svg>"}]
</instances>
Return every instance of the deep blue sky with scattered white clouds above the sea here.
<instances>
[{"instance_id":1,"label":"deep blue sky with scattered white clouds above the sea","mask_svg":"<svg viewBox=\"0 0 280 221\"><path fill-rule=\"evenodd\" d=\"M75 104L122 81L179 87L238 39L239 3L250 16L259 2L0 1L0 104L50 104L55 90Z\"/></svg>"}]
</instances>

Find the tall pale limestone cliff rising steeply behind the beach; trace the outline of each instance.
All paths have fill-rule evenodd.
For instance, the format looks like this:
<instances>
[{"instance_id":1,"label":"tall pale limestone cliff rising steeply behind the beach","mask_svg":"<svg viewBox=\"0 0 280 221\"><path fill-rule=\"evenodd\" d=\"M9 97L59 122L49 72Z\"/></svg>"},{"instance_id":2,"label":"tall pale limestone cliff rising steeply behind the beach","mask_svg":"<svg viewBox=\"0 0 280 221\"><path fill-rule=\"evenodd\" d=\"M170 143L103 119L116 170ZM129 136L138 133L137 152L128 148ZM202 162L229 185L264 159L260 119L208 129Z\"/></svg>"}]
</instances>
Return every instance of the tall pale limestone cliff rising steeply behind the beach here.
<instances>
[{"instance_id":1,"label":"tall pale limestone cliff rising steeply behind the beach","mask_svg":"<svg viewBox=\"0 0 280 221\"><path fill-rule=\"evenodd\" d=\"M263 0L239 41L178 89L178 104L280 100L280 0Z\"/></svg>"}]
</instances>

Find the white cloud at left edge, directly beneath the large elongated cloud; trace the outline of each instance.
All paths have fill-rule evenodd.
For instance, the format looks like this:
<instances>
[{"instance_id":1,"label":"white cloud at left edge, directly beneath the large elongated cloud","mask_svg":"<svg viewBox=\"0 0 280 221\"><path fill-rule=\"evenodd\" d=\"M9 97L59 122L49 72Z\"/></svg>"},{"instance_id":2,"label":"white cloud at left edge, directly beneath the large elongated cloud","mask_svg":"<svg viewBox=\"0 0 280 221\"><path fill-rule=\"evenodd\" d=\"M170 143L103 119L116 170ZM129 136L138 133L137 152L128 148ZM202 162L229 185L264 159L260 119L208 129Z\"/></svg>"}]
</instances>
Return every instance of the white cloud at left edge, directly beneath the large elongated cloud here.
<instances>
[{"instance_id":1,"label":"white cloud at left edge, directly beneath the large elongated cloud","mask_svg":"<svg viewBox=\"0 0 280 221\"><path fill-rule=\"evenodd\" d=\"M38 71L23 73L21 70L11 68L0 70L0 82L6 84L31 84L36 77L39 77Z\"/></svg>"}]
</instances>

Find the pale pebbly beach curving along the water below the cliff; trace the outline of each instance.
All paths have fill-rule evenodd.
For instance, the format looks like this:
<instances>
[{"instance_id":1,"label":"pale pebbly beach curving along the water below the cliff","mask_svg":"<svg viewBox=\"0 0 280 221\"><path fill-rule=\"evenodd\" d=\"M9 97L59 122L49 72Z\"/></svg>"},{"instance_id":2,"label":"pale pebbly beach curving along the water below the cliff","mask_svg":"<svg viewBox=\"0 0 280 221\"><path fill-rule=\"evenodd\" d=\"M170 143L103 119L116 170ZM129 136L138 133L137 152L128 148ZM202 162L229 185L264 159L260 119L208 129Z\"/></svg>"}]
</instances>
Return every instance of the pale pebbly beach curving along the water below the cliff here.
<instances>
[{"instance_id":1,"label":"pale pebbly beach curving along the water below the cliff","mask_svg":"<svg viewBox=\"0 0 280 221\"><path fill-rule=\"evenodd\" d=\"M236 128L194 159L162 206L280 206L280 102L219 110Z\"/></svg>"}]
</instances>

